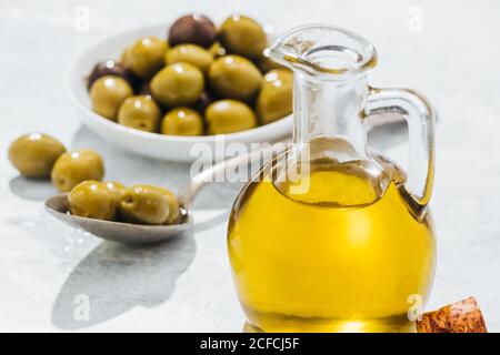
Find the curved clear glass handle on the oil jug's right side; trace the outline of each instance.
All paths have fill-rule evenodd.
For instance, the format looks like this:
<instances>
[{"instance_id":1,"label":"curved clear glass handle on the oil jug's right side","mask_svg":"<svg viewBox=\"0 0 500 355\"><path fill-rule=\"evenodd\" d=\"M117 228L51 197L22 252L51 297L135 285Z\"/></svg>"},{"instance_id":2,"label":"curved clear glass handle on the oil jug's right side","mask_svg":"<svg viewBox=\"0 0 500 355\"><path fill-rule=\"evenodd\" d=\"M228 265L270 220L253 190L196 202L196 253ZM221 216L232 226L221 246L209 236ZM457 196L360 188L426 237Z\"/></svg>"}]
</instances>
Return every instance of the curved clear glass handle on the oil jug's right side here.
<instances>
[{"instance_id":1,"label":"curved clear glass handle on the oil jug's right side","mask_svg":"<svg viewBox=\"0 0 500 355\"><path fill-rule=\"evenodd\" d=\"M432 193L434 176L434 120L429 101L408 89L369 89L364 113L377 122L382 115L402 115L408 123L410 159L403 193L422 216Z\"/></svg>"}]
</instances>

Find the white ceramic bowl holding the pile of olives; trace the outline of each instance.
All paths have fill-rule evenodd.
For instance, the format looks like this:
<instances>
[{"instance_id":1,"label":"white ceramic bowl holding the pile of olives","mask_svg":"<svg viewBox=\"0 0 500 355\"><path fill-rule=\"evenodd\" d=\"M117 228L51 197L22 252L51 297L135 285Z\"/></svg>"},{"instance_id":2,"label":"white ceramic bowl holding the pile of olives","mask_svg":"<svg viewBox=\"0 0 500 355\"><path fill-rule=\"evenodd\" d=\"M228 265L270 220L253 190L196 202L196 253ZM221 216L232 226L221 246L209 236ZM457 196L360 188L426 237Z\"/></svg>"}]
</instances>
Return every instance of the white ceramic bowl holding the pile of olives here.
<instances>
[{"instance_id":1,"label":"white ceramic bowl holding the pile of olives","mask_svg":"<svg viewBox=\"0 0 500 355\"><path fill-rule=\"evenodd\" d=\"M109 121L91 110L89 92L87 91L86 77L93 65L107 59L120 59L121 52L144 36L157 36L164 38L168 26L158 24L122 32L98 41L82 53L80 53L70 64L66 82L71 102L77 108L83 123L104 140L120 145L124 150L139 153L146 156L192 162L199 159L197 143L206 143L214 151L216 136L177 136L157 133L142 132L129 129L121 124ZM224 134L224 144L240 142L246 145L250 143L273 142L291 133L292 118L286 116L270 124L261 125L252 130ZM218 136L220 140L221 136ZM191 151L193 149L193 151ZM220 158L220 156L219 156Z\"/></svg>"}]
</instances>

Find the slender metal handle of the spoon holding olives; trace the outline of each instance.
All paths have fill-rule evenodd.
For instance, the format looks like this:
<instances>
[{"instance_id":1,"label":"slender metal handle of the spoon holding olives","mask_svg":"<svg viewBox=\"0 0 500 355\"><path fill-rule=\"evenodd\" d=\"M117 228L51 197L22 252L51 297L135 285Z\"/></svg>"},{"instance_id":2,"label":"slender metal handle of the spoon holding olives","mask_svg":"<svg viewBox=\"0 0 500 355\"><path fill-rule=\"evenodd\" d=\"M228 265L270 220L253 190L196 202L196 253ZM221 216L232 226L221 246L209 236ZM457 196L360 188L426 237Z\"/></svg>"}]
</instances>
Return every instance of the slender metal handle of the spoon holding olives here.
<instances>
[{"instance_id":1,"label":"slender metal handle of the spoon holding olives","mask_svg":"<svg viewBox=\"0 0 500 355\"><path fill-rule=\"evenodd\" d=\"M182 205L189 210L196 195L203 189L209 182L217 181L217 176L224 176L226 172L229 170L233 170L237 166L249 165L262 156L268 156L270 153L278 153L287 148L287 144L290 142L290 139L286 139L283 141L277 142L274 144L266 144L260 149L249 151L247 153L239 154L234 158L230 158L223 160L209 169L203 170L199 174L194 175L189 184L182 187L179 193L179 200Z\"/></svg>"}]
</instances>

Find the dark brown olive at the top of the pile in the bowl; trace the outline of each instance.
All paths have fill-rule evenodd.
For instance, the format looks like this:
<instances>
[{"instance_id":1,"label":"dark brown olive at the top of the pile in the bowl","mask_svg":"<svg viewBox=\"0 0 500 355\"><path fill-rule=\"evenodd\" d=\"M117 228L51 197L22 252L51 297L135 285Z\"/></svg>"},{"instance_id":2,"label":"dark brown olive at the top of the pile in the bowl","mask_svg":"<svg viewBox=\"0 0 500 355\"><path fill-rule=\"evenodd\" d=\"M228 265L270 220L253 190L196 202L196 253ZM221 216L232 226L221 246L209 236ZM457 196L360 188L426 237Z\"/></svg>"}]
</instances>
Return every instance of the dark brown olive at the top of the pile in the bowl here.
<instances>
[{"instance_id":1,"label":"dark brown olive at the top of the pile in the bowl","mask_svg":"<svg viewBox=\"0 0 500 355\"><path fill-rule=\"evenodd\" d=\"M179 18L170 28L170 47L182 43L209 48L216 41L216 26L206 16L192 13Z\"/></svg>"}]
</instances>

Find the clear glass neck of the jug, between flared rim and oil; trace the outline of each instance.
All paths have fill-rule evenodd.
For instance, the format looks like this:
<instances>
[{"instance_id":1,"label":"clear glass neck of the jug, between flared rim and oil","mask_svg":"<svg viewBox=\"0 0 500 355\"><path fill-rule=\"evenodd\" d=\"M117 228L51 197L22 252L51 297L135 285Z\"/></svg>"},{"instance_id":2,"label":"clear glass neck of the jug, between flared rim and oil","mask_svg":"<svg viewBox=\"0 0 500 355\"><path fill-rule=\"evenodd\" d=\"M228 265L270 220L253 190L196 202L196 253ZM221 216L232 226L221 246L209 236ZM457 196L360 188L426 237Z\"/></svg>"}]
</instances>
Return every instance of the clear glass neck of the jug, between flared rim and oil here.
<instances>
[{"instance_id":1,"label":"clear glass neck of the jug, between flared rim and oil","mask_svg":"<svg viewBox=\"0 0 500 355\"><path fill-rule=\"evenodd\" d=\"M346 141L353 155L367 154L362 114L368 97L366 75L350 80L318 80L294 73L293 142L303 145L316 139Z\"/></svg>"}]
</instances>

